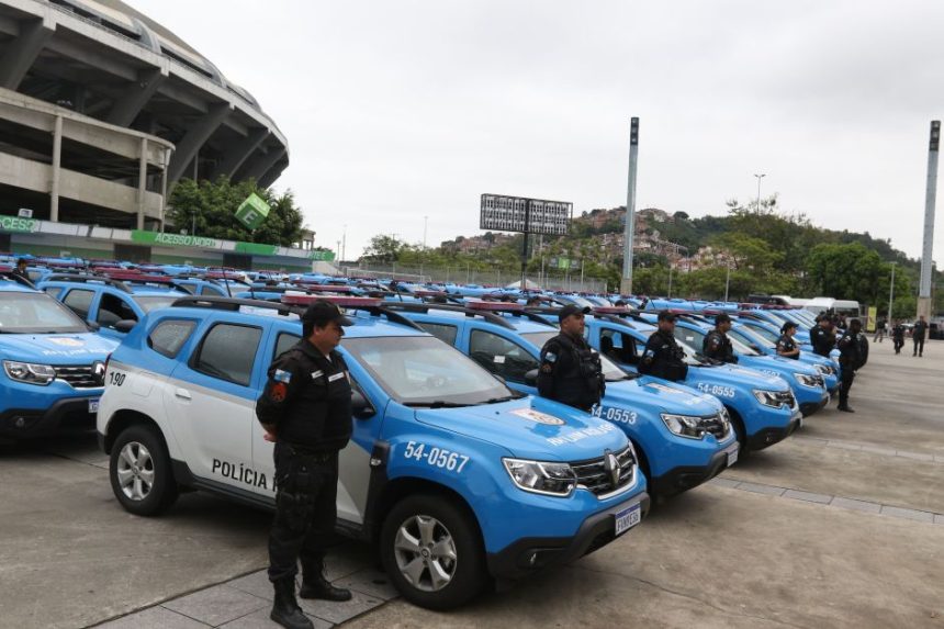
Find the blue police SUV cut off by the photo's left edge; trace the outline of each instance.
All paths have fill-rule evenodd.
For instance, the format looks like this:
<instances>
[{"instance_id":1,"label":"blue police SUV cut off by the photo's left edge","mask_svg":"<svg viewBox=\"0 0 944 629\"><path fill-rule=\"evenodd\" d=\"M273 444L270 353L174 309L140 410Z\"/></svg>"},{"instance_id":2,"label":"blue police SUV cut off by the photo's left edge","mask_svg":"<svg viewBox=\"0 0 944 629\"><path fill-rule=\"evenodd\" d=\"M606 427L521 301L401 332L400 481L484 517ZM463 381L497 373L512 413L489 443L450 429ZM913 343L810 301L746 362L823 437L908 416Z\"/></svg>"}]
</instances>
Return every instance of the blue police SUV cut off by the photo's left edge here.
<instances>
[{"instance_id":1,"label":"blue police SUV cut off by the photo's left edge","mask_svg":"<svg viewBox=\"0 0 944 629\"><path fill-rule=\"evenodd\" d=\"M91 428L116 345L49 295L0 276L0 437Z\"/></svg>"}]
</instances>

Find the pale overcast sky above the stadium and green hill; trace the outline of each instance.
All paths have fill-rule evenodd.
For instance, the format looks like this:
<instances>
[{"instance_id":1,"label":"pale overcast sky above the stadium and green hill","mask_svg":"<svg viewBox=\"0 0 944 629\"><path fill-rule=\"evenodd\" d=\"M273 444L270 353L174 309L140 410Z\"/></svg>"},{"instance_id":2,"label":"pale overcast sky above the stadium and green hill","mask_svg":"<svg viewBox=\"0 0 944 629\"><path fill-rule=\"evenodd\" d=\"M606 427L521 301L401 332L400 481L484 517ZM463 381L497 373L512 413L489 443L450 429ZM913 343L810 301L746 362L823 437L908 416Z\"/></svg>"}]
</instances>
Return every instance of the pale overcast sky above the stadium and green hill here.
<instances>
[{"instance_id":1,"label":"pale overcast sky above the stadium and green hill","mask_svg":"<svg viewBox=\"0 0 944 629\"><path fill-rule=\"evenodd\" d=\"M921 255L944 2L130 0L248 89L347 255L479 233L482 192L693 216L776 192ZM941 203L944 204L944 190ZM942 258L944 216L935 257Z\"/></svg>"}]
</instances>

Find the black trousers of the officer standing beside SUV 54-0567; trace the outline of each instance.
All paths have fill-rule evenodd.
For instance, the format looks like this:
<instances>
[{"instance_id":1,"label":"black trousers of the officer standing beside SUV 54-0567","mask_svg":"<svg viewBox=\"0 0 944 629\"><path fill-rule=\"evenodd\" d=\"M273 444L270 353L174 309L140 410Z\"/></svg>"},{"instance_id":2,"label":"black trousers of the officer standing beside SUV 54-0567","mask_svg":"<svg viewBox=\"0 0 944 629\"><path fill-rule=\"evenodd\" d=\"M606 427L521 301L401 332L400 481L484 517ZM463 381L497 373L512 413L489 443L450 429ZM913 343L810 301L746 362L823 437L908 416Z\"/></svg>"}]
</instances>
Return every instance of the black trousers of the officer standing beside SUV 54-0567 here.
<instances>
[{"instance_id":1,"label":"black trousers of the officer standing beside SUV 54-0567","mask_svg":"<svg viewBox=\"0 0 944 629\"><path fill-rule=\"evenodd\" d=\"M276 443L276 519L269 533L269 581L321 570L337 520L338 453L305 454Z\"/></svg>"}]
</instances>

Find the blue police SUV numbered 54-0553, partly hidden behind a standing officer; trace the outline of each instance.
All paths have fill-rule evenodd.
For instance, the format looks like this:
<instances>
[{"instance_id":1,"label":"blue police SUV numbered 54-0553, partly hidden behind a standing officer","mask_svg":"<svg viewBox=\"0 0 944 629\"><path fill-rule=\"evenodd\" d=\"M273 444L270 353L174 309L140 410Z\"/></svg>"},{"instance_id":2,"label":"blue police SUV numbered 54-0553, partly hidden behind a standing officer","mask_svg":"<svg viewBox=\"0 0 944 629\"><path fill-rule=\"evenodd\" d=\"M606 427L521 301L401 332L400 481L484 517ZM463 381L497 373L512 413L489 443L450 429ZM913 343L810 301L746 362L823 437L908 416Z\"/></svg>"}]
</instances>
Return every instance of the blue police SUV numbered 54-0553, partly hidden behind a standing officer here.
<instances>
[{"instance_id":1,"label":"blue police SUV numbered 54-0553, partly hidden behind a standing officer","mask_svg":"<svg viewBox=\"0 0 944 629\"><path fill-rule=\"evenodd\" d=\"M389 307L403 311L512 389L538 394L541 348L558 335L544 317L503 302ZM681 384L630 375L606 357L600 362L606 394L592 413L617 425L632 441L651 495L690 490L737 462L738 440L718 400Z\"/></svg>"}]
</instances>

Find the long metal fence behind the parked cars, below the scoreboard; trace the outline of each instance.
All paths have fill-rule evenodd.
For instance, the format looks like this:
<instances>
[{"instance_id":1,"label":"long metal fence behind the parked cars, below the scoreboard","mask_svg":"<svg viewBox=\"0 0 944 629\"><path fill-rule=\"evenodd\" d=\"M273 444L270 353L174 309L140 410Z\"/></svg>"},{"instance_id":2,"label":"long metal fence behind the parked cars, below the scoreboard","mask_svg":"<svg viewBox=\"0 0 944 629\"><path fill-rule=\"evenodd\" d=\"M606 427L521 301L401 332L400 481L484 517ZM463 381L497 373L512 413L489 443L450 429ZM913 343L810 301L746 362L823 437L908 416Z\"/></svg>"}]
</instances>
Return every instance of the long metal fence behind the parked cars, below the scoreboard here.
<instances>
[{"instance_id":1,"label":"long metal fence behind the parked cars, below the scoreboard","mask_svg":"<svg viewBox=\"0 0 944 629\"><path fill-rule=\"evenodd\" d=\"M502 269L475 270L464 267L427 267L402 265L359 265L341 267L346 276L362 278L396 279L405 282L436 282L457 284L480 284L483 287L506 287L521 280L520 271ZM602 293L606 291L606 280L584 276L576 271L548 270L544 273L527 276L528 287L539 287L552 291L577 291Z\"/></svg>"}]
</instances>

